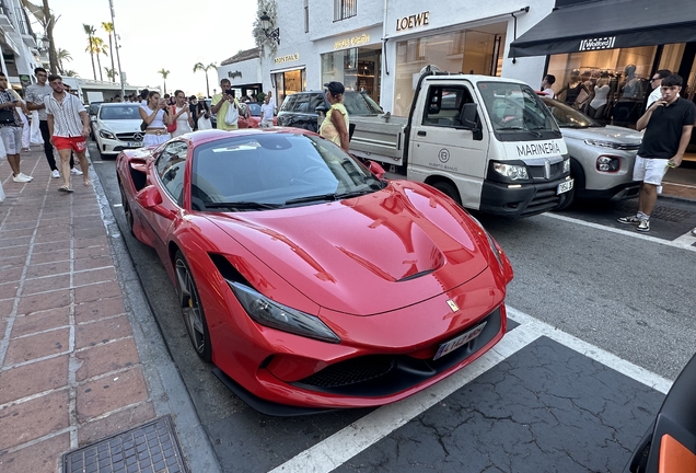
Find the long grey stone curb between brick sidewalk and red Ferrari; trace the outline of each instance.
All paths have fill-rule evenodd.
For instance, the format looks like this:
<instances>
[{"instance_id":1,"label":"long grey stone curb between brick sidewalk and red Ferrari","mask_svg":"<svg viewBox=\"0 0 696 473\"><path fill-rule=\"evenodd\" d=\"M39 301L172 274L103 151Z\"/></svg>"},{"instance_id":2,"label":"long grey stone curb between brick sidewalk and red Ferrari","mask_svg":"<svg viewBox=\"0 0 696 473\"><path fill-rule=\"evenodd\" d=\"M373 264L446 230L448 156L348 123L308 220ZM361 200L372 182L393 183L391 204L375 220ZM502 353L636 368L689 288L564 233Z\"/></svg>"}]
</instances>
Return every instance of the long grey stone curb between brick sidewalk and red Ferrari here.
<instances>
[{"instance_id":1,"label":"long grey stone curb between brick sidewalk and red Ferrari","mask_svg":"<svg viewBox=\"0 0 696 473\"><path fill-rule=\"evenodd\" d=\"M158 417L166 414L174 417L184 458L192 472L221 472L208 435L200 424L194 403L152 314L130 252L120 234L118 222L93 165L90 178L96 194L102 221L106 228L111 255L124 295L124 307L132 326L142 372L155 414Z\"/></svg>"}]
</instances>

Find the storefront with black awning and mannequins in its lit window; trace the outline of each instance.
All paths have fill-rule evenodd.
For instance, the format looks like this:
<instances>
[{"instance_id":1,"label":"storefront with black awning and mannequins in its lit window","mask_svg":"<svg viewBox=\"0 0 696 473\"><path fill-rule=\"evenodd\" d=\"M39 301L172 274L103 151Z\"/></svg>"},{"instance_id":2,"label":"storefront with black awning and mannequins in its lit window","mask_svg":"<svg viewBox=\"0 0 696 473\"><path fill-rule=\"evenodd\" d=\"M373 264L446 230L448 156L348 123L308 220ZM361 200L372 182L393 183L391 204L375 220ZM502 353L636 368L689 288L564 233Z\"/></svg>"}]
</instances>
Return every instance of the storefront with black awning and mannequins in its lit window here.
<instances>
[{"instance_id":1,"label":"storefront with black awning and mannequins in its lit window","mask_svg":"<svg viewBox=\"0 0 696 473\"><path fill-rule=\"evenodd\" d=\"M693 0L557 0L556 7L511 44L510 57L546 56L559 100L604 123L635 127L660 69L682 76L682 95L694 100Z\"/></svg>"}]
</instances>

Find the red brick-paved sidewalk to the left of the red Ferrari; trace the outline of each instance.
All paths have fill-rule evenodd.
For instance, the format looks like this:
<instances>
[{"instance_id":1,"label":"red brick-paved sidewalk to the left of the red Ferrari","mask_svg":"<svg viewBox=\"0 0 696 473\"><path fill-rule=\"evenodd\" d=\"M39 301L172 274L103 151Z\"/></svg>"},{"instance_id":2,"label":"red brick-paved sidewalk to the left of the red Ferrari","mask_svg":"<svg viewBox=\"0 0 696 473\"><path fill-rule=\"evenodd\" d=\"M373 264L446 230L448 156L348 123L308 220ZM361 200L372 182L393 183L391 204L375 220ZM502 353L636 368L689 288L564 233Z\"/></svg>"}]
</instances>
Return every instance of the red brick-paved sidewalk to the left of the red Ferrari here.
<instances>
[{"instance_id":1,"label":"red brick-paved sidewalk to the left of the red Ferrari","mask_svg":"<svg viewBox=\"0 0 696 473\"><path fill-rule=\"evenodd\" d=\"M49 177L35 147L22 154L22 172L34 181L12 182L0 161L0 471L61 471L62 453L165 414L193 424L178 423L184 457L190 443L205 451L161 336L140 326L142 313L121 291L123 255L112 253L94 171L94 187L73 176L76 192L59 193L62 180ZM149 314L147 305L139 312Z\"/></svg>"}]
</instances>

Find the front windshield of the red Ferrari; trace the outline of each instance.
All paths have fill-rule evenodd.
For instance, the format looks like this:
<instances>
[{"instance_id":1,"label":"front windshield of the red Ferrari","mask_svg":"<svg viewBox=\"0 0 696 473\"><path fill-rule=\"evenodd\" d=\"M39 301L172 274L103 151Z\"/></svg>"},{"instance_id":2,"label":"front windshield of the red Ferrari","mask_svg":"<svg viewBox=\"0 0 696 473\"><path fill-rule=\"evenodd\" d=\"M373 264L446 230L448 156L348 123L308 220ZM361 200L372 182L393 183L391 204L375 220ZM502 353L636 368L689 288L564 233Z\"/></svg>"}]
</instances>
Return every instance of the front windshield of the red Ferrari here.
<instances>
[{"instance_id":1,"label":"front windshield of the red Ferrari","mask_svg":"<svg viewBox=\"0 0 696 473\"><path fill-rule=\"evenodd\" d=\"M383 187L333 142L312 135L256 132L194 150L192 208L248 211L340 200Z\"/></svg>"}]
</instances>

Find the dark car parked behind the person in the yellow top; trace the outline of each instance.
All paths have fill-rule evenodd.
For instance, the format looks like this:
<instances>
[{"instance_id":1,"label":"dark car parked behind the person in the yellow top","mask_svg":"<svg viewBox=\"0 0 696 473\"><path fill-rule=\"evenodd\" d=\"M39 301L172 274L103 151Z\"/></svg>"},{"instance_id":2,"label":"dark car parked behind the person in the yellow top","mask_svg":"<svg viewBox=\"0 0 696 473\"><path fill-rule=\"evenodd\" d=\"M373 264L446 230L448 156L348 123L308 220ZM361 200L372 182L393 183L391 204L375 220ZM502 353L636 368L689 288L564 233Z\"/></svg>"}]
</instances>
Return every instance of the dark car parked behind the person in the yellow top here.
<instances>
[{"instance_id":1,"label":"dark car parked behind the person in the yellow top","mask_svg":"<svg viewBox=\"0 0 696 473\"><path fill-rule=\"evenodd\" d=\"M346 91L344 105L350 116L370 116L384 113L382 107L364 92ZM330 108L323 91L306 91L288 95L278 112L277 124L317 131L317 108L323 112Z\"/></svg>"}]
</instances>

